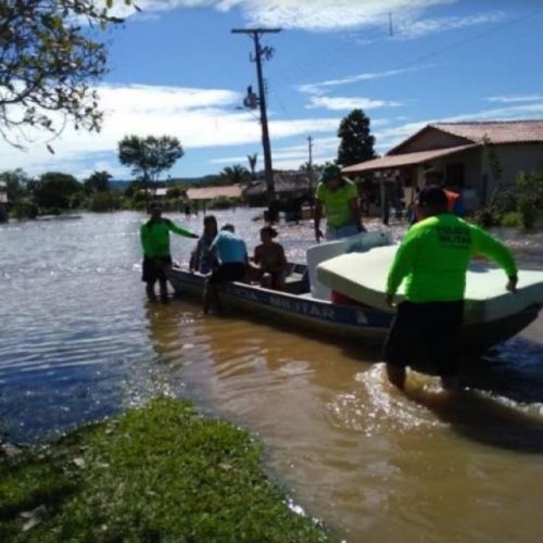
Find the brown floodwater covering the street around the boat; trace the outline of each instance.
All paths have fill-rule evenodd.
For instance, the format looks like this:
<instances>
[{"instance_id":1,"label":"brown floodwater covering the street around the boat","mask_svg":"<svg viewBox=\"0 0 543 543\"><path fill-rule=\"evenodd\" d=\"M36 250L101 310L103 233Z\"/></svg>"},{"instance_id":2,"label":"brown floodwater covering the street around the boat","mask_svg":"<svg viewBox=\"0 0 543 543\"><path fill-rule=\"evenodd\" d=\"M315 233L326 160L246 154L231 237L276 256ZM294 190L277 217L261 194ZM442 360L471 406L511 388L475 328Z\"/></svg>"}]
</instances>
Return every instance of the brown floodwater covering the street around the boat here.
<instances>
[{"instance_id":1,"label":"brown floodwater covering the street around the boat","mask_svg":"<svg viewBox=\"0 0 543 543\"><path fill-rule=\"evenodd\" d=\"M217 217L252 250L256 214ZM169 216L201 231L202 216ZM142 218L0 227L1 433L33 441L166 391L257 434L294 502L346 541L541 538L541 316L484 358L463 361L477 392L445 395L412 375L405 397L388 384L378 350L204 316L189 300L148 303ZM279 230L289 260L303 261L311 225ZM497 233L521 266L543 269L542 232ZM173 237L176 260L187 262L191 247Z\"/></svg>"}]
</instances>

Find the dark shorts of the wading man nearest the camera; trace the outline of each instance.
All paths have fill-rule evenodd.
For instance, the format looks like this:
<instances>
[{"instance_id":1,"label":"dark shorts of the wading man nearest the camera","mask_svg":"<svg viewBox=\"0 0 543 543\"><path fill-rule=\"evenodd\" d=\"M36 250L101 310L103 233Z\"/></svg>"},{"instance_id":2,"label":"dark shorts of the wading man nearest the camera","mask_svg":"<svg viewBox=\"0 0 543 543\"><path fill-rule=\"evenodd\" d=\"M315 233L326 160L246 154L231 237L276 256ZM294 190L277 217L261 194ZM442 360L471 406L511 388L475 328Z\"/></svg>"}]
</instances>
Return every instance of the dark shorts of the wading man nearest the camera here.
<instances>
[{"instance_id":1,"label":"dark shorts of the wading man nearest the camera","mask_svg":"<svg viewBox=\"0 0 543 543\"><path fill-rule=\"evenodd\" d=\"M403 302L384 344L384 359L441 377L458 374L464 302Z\"/></svg>"}]
</instances>

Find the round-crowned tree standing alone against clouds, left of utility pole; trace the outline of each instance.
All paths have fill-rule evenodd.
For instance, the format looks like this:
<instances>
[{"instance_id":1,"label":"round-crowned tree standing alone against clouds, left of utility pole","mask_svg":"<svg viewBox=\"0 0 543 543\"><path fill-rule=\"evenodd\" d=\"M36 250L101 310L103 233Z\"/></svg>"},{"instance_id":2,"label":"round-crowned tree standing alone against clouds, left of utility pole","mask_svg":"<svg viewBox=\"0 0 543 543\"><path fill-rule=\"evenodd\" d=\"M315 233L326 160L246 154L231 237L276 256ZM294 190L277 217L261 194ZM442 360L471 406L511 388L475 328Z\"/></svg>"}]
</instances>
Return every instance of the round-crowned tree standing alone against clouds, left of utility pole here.
<instances>
[{"instance_id":1,"label":"round-crowned tree standing alone against clouds, left of utility pole","mask_svg":"<svg viewBox=\"0 0 543 543\"><path fill-rule=\"evenodd\" d=\"M172 136L126 136L118 143L121 164L129 166L132 174L143 182L147 199L149 185L156 184L160 175L168 171L184 154L181 143Z\"/></svg>"}]
</instances>

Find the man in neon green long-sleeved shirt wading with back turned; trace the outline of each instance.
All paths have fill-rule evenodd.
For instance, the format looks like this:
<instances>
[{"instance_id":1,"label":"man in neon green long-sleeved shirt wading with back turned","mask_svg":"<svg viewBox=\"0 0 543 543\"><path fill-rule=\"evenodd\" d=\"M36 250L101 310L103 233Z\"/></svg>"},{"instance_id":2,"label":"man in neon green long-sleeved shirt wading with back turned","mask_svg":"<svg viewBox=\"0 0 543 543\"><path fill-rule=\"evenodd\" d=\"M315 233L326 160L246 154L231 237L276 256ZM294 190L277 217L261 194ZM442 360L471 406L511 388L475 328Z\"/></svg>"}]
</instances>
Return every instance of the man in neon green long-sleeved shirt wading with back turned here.
<instances>
[{"instance_id":1,"label":"man in neon green long-sleeved shirt wading with back turned","mask_svg":"<svg viewBox=\"0 0 543 543\"><path fill-rule=\"evenodd\" d=\"M420 354L444 387L457 387L457 354L464 316L466 272L470 258L494 260L508 277L506 289L516 291L517 266L510 251L484 230L447 212L447 198L437 186L420 191L418 211L424 219L406 233L387 280L387 302L405 280L406 301L384 346L389 380L405 384L405 367Z\"/></svg>"}]
</instances>

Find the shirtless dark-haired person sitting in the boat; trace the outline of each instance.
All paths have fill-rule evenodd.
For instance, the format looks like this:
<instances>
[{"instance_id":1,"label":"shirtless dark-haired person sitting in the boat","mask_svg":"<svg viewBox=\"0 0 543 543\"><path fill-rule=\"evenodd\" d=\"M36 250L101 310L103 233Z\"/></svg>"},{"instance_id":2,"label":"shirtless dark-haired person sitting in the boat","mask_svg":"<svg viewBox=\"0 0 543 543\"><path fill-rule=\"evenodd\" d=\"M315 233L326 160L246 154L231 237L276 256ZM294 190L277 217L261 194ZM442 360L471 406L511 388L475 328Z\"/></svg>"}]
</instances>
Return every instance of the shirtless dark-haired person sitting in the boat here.
<instances>
[{"instance_id":1,"label":"shirtless dark-haired person sitting in the boat","mask_svg":"<svg viewBox=\"0 0 543 543\"><path fill-rule=\"evenodd\" d=\"M261 228L260 245L254 249L252 257L252 277L266 289L282 290L287 272L287 257L280 243L274 241L277 230L272 226Z\"/></svg>"}]
</instances>

